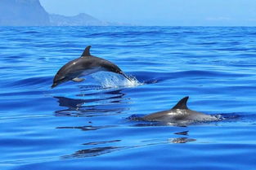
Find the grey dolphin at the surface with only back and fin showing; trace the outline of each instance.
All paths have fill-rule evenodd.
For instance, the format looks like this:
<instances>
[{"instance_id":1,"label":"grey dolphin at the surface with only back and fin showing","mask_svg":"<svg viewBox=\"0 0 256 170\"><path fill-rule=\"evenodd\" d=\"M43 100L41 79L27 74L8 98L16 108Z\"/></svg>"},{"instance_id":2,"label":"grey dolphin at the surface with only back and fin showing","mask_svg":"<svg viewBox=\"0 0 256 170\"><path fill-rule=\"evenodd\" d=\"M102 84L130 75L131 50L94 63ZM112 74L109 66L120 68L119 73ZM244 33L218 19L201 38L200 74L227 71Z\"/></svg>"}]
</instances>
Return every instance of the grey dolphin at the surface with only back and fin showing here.
<instances>
[{"instance_id":1,"label":"grey dolphin at the surface with only back and fin showing","mask_svg":"<svg viewBox=\"0 0 256 170\"><path fill-rule=\"evenodd\" d=\"M216 116L206 115L198 111L192 111L186 106L188 96L182 98L177 104L168 111L159 111L147 116L143 116L141 120L160 121L166 123L182 124L195 121L214 121L218 120Z\"/></svg>"}]
</instances>

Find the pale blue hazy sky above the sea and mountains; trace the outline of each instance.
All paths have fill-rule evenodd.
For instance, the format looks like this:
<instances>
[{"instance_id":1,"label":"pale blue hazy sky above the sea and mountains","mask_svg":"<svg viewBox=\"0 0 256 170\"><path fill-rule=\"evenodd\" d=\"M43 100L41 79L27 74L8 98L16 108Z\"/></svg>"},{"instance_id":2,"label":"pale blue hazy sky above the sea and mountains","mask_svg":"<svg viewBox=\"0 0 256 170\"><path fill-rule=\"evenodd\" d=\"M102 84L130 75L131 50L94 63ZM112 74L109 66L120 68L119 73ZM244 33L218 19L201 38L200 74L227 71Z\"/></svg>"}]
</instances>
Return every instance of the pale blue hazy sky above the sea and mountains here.
<instances>
[{"instance_id":1,"label":"pale blue hazy sky above the sea and mountains","mask_svg":"<svg viewBox=\"0 0 256 170\"><path fill-rule=\"evenodd\" d=\"M49 13L138 25L256 26L256 0L40 0Z\"/></svg>"}]
</instances>

